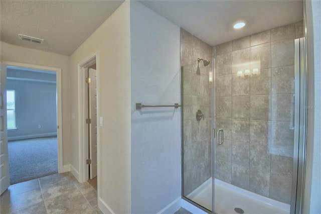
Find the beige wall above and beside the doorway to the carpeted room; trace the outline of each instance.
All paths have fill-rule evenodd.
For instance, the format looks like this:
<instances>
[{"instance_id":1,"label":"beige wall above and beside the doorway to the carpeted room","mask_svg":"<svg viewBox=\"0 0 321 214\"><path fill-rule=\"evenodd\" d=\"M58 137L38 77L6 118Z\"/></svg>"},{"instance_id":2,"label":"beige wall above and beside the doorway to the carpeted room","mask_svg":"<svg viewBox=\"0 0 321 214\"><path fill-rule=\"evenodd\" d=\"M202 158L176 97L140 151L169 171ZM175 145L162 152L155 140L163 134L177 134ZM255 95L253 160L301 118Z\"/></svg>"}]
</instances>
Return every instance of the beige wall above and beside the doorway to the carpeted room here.
<instances>
[{"instance_id":1,"label":"beige wall above and beside the doorway to the carpeted room","mask_svg":"<svg viewBox=\"0 0 321 214\"><path fill-rule=\"evenodd\" d=\"M11 45L5 42L0 43L1 61L19 62L32 65L61 68L62 72L62 139L63 139L63 165L71 163L71 129L70 129L70 69L69 56L40 51L31 48Z\"/></svg>"}]
</instances>

